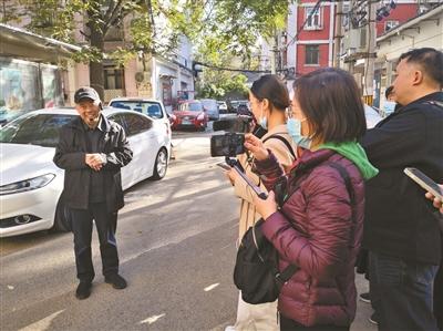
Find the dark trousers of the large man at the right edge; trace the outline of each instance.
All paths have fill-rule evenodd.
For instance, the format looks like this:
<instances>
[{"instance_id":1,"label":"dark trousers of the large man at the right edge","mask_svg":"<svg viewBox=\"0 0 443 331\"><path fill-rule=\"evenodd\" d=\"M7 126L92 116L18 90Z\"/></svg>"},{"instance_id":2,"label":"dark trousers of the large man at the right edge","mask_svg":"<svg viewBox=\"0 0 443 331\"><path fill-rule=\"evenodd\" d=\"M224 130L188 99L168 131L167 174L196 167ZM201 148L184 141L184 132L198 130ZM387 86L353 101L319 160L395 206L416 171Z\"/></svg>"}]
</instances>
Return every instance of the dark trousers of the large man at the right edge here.
<instances>
[{"instance_id":1,"label":"dark trousers of the large man at the right edge","mask_svg":"<svg viewBox=\"0 0 443 331\"><path fill-rule=\"evenodd\" d=\"M437 331L432 283L437 266L370 251L371 290L379 294L379 330Z\"/></svg>"}]
</instances>

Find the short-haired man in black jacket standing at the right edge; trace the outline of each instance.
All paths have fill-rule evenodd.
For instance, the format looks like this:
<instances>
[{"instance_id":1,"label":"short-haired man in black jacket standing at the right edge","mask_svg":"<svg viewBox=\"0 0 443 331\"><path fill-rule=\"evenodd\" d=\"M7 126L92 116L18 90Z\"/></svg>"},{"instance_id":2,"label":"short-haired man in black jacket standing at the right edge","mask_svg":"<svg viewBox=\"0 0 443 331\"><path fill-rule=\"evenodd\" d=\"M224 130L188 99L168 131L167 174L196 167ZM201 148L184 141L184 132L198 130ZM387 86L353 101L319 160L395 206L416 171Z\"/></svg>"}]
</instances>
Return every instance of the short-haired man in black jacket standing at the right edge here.
<instances>
[{"instance_id":1,"label":"short-haired man in black jacket standing at the right edge","mask_svg":"<svg viewBox=\"0 0 443 331\"><path fill-rule=\"evenodd\" d=\"M363 147L380 173L367 184L363 246L371 291L381 293L380 330L437 330L432 285L442 237L432 204L403 174L416 167L443 182L443 54L416 49L400 56L393 83L402 107L369 130Z\"/></svg>"}]
</instances>

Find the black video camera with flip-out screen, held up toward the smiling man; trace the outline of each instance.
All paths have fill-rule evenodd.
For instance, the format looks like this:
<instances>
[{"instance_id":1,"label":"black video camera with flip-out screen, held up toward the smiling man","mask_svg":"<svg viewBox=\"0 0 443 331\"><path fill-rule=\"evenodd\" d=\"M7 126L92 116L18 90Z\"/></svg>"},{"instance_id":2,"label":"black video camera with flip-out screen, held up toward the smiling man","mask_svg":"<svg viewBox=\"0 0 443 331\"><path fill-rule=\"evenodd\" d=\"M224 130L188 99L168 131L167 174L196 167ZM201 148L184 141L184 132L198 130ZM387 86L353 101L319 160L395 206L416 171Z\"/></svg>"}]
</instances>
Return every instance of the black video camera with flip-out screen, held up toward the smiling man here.
<instances>
[{"instance_id":1,"label":"black video camera with flip-out screen, held up toward the smiling man","mask_svg":"<svg viewBox=\"0 0 443 331\"><path fill-rule=\"evenodd\" d=\"M253 116L226 117L215 121L214 131L225 131L225 134L213 135L210 137L210 156L235 157L245 153L245 133L251 132L261 137L266 131L255 125Z\"/></svg>"}]
</instances>

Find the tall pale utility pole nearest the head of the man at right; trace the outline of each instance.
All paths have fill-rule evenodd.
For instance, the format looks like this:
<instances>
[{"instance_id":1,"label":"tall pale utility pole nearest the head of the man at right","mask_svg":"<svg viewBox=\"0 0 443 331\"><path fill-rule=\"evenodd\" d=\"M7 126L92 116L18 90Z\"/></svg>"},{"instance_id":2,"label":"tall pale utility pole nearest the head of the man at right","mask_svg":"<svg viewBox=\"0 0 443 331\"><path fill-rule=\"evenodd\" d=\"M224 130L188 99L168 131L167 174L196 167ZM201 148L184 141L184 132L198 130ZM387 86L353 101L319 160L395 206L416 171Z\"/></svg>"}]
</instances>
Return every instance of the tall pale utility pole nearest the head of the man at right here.
<instances>
[{"instance_id":1,"label":"tall pale utility pole nearest the head of the man at right","mask_svg":"<svg viewBox=\"0 0 443 331\"><path fill-rule=\"evenodd\" d=\"M377 42L377 29L375 29L375 10L378 1L368 1L368 12L369 12L369 29L368 32L368 43L367 43L367 59L365 59L365 71L364 71L364 89L363 97L364 102L372 105L373 102L373 79L374 79L374 63L375 63L375 42Z\"/></svg>"}]
</instances>

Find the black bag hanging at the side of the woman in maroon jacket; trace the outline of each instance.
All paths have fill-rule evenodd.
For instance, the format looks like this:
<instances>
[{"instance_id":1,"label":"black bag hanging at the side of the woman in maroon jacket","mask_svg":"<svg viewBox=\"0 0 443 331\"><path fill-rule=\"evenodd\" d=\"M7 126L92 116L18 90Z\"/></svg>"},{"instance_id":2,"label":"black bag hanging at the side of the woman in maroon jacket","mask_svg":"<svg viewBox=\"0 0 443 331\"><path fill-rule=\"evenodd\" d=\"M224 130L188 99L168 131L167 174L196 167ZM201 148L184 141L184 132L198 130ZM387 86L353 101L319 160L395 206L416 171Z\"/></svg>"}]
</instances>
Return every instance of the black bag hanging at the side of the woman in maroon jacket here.
<instances>
[{"instance_id":1,"label":"black bag hanging at the side of the woman in maroon jacket","mask_svg":"<svg viewBox=\"0 0 443 331\"><path fill-rule=\"evenodd\" d=\"M246 231L234 268L234 283L241 290L243 300L253 304L276 301L281 287L298 269L290 265L279 272L277 249L260 229L264 221L260 218Z\"/></svg>"}]
</instances>

